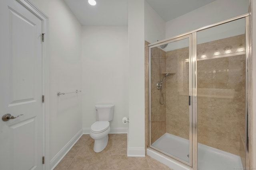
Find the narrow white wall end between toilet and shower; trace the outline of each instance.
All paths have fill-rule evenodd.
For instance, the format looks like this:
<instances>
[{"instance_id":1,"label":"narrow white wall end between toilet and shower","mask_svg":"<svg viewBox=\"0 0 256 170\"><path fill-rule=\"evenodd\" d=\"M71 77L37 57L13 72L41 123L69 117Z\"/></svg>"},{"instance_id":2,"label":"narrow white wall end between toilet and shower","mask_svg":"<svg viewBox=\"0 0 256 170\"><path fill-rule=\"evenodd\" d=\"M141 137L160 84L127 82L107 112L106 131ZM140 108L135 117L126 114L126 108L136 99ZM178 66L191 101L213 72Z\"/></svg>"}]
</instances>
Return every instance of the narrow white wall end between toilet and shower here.
<instances>
[{"instance_id":1,"label":"narrow white wall end between toilet and shower","mask_svg":"<svg viewBox=\"0 0 256 170\"><path fill-rule=\"evenodd\" d=\"M128 156L145 156L144 0L128 1Z\"/></svg>"}]
</instances>

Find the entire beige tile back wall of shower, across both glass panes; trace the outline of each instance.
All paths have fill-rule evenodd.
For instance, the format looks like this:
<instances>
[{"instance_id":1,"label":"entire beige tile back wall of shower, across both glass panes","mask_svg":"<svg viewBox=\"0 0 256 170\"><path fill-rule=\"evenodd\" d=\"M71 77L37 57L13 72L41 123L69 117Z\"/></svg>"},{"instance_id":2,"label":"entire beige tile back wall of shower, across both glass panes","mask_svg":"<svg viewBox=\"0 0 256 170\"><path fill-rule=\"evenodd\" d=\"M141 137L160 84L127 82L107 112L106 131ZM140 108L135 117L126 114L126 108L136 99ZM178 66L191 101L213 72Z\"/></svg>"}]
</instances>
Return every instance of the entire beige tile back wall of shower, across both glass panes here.
<instances>
[{"instance_id":1,"label":"entire beige tile back wall of shower, across both glass panes","mask_svg":"<svg viewBox=\"0 0 256 170\"><path fill-rule=\"evenodd\" d=\"M198 56L235 53L245 36L238 35L198 45ZM189 138L188 48L166 53L166 132ZM197 63L198 143L240 154L240 132L245 131L245 55L201 60Z\"/></svg>"}]
</instances>

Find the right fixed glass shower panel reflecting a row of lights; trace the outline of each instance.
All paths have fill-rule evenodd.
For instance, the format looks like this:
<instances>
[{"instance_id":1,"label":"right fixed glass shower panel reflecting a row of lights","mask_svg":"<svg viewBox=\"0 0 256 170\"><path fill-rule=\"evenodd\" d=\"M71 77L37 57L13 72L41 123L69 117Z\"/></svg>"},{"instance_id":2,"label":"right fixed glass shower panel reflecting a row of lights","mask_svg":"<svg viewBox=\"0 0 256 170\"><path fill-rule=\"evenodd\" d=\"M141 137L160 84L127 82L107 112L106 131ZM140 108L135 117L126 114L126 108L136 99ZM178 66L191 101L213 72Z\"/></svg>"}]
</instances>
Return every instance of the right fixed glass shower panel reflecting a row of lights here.
<instances>
[{"instance_id":1,"label":"right fixed glass shower panel reflecting a row of lights","mask_svg":"<svg viewBox=\"0 0 256 170\"><path fill-rule=\"evenodd\" d=\"M198 168L246 167L245 18L197 32Z\"/></svg>"}]
</instances>

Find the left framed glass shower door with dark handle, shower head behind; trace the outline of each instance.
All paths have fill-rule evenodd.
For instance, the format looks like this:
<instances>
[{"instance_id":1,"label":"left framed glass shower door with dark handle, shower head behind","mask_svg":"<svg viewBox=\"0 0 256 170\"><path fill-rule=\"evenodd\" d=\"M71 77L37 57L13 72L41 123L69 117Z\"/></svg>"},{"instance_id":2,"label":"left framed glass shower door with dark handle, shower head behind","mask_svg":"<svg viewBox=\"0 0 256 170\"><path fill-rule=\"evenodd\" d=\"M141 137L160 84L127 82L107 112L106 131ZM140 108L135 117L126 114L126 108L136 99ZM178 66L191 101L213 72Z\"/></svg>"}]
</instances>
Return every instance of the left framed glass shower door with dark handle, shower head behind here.
<instances>
[{"instance_id":1,"label":"left framed glass shower door with dark handle, shower head behind","mask_svg":"<svg viewBox=\"0 0 256 170\"><path fill-rule=\"evenodd\" d=\"M150 147L192 166L191 35L149 47Z\"/></svg>"}]
</instances>

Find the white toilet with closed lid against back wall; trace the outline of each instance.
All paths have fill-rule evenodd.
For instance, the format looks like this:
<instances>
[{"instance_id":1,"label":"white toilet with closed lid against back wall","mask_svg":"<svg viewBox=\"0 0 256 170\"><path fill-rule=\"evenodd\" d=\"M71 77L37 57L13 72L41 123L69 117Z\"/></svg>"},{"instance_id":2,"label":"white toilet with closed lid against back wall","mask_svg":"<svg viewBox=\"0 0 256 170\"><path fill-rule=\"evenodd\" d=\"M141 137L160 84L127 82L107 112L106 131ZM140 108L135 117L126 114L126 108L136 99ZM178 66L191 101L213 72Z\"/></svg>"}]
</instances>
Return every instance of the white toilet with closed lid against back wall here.
<instances>
[{"instance_id":1,"label":"white toilet with closed lid against back wall","mask_svg":"<svg viewBox=\"0 0 256 170\"><path fill-rule=\"evenodd\" d=\"M96 122L91 125L90 137L94 139L94 152L101 152L108 144L109 121L113 119L114 104L96 105Z\"/></svg>"}]
</instances>

